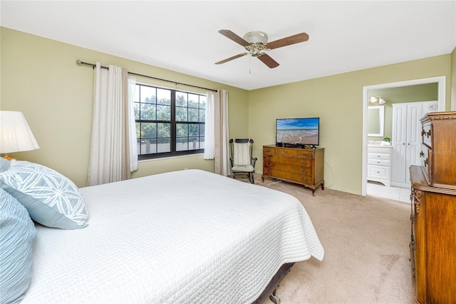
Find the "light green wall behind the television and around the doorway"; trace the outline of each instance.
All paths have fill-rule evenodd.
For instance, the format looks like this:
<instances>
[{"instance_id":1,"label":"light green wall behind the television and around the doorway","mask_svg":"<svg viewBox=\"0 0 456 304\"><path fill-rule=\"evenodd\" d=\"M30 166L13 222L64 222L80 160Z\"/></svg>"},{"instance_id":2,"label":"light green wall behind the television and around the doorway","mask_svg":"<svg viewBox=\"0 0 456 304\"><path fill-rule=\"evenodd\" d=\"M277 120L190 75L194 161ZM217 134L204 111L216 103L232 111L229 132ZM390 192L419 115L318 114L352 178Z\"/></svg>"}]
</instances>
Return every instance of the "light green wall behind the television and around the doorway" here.
<instances>
[{"instance_id":1,"label":"light green wall behind the television and around the doorway","mask_svg":"<svg viewBox=\"0 0 456 304\"><path fill-rule=\"evenodd\" d=\"M363 86L412 79L447 77L450 101L451 54L353 71L249 92L249 136L262 168L261 146L274 143L276 118L320 117L320 146L325 148L325 184L361 194Z\"/></svg>"}]
</instances>

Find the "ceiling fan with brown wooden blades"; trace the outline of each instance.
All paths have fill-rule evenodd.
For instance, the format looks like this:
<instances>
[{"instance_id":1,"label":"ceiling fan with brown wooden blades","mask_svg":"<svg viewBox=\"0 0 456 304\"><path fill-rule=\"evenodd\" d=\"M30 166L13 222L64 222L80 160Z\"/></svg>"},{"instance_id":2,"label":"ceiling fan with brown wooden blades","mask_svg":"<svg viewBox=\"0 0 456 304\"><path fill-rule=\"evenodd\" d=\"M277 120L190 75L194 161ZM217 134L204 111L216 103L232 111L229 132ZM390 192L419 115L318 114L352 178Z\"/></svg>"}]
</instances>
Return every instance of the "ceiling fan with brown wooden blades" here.
<instances>
[{"instance_id":1,"label":"ceiling fan with brown wooden blades","mask_svg":"<svg viewBox=\"0 0 456 304\"><path fill-rule=\"evenodd\" d=\"M229 29L221 29L219 33L244 46L247 52L229 57L228 59L216 62L215 64L224 64L225 62L232 61L233 59L250 55L257 57L261 62L266 64L266 66L269 66L271 69L279 66L279 64L274 59L272 59L271 56L266 54L265 51L277 49L282 46L289 46L291 44L299 44L300 42L309 40L309 35L306 33L296 34L269 43L268 35L264 33L264 31L249 31L249 33L245 34L242 38L237 36L237 34L234 34Z\"/></svg>"}]
</instances>

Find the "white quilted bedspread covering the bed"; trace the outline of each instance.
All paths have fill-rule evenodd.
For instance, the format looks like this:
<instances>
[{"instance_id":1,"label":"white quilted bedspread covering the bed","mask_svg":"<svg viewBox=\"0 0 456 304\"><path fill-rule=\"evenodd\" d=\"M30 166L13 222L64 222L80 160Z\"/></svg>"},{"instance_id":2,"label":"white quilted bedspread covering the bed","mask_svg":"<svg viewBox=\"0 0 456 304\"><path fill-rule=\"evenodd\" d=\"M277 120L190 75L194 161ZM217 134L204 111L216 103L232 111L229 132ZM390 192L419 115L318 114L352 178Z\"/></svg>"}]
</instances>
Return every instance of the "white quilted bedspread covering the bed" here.
<instances>
[{"instance_id":1,"label":"white quilted bedspread covering the bed","mask_svg":"<svg viewBox=\"0 0 456 304\"><path fill-rule=\"evenodd\" d=\"M252 303L284 263L321 260L301 203L199 170L81 189L88 227L38 226L22 303Z\"/></svg>"}]
</instances>

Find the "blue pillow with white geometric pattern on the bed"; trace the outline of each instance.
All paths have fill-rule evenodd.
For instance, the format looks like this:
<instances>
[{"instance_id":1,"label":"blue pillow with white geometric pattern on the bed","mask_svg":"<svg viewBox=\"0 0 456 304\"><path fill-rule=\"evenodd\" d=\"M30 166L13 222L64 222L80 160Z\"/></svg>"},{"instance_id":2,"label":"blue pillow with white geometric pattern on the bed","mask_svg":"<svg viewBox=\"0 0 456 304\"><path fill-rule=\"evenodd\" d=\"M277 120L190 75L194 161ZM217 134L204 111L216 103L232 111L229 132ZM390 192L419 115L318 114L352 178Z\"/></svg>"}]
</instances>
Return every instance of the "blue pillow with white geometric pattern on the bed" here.
<instances>
[{"instance_id":1,"label":"blue pillow with white geometric pattern on the bed","mask_svg":"<svg viewBox=\"0 0 456 304\"><path fill-rule=\"evenodd\" d=\"M88 213L79 188L66 176L28 161L11 161L0 173L0 187L14 196L41 225L78 229L87 226Z\"/></svg>"}]
</instances>

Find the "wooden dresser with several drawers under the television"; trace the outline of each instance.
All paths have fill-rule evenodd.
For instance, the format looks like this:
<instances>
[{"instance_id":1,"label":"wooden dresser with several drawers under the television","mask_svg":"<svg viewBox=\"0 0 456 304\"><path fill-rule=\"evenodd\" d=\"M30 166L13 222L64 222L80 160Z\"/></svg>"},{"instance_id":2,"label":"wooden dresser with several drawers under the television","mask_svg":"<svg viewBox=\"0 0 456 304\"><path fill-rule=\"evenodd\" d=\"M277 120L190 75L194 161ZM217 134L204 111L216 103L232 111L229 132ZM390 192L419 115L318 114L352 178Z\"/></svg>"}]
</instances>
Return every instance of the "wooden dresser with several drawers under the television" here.
<instances>
[{"instance_id":1,"label":"wooden dresser with several drawers under the television","mask_svg":"<svg viewBox=\"0 0 456 304\"><path fill-rule=\"evenodd\" d=\"M321 185L324 190L324 148L287 148L263 146L263 175L282 181L299 183L315 190Z\"/></svg>"}]
</instances>

